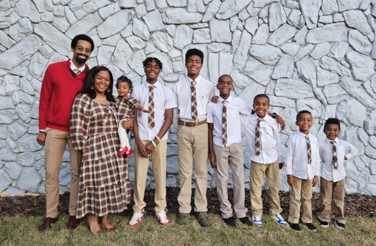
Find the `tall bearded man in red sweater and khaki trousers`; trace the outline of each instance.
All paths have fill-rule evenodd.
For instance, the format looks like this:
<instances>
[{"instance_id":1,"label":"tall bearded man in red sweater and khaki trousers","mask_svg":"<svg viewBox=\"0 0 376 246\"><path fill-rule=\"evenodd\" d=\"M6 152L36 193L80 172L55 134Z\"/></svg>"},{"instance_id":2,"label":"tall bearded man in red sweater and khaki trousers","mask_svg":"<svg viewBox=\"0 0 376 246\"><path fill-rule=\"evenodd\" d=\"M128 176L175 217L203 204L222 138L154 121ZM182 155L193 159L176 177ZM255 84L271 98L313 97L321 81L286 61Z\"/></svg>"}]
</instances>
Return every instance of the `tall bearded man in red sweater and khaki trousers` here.
<instances>
[{"instance_id":1,"label":"tall bearded man in red sweater and khaki trousers","mask_svg":"<svg viewBox=\"0 0 376 246\"><path fill-rule=\"evenodd\" d=\"M85 63L94 50L94 42L89 36L80 34L72 39L71 48L73 58L49 65L42 82L37 142L45 149L46 219L38 228L39 231L50 228L57 221L59 172L66 144L72 173L68 227L75 229L79 223L76 219L76 207L82 155L72 146L69 123L73 101L89 71Z\"/></svg>"}]
</instances>

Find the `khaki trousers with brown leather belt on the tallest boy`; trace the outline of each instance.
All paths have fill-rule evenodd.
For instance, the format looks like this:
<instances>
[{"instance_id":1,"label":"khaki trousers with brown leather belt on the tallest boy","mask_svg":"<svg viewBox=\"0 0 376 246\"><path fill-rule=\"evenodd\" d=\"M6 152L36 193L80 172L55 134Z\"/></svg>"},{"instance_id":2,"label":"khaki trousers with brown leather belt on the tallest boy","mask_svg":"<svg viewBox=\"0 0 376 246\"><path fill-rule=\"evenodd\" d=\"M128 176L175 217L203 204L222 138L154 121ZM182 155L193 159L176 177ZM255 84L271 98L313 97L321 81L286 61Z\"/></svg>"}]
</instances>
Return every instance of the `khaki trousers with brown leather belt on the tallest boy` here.
<instances>
[{"instance_id":1,"label":"khaki trousers with brown leather belt on the tallest boy","mask_svg":"<svg viewBox=\"0 0 376 246\"><path fill-rule=\"evenodd\" d=\"M198 127L178 126L179 212L191 212L192 170L195 178L194 211L207 212L208 124Z\"/></svg>"}]
</instances>

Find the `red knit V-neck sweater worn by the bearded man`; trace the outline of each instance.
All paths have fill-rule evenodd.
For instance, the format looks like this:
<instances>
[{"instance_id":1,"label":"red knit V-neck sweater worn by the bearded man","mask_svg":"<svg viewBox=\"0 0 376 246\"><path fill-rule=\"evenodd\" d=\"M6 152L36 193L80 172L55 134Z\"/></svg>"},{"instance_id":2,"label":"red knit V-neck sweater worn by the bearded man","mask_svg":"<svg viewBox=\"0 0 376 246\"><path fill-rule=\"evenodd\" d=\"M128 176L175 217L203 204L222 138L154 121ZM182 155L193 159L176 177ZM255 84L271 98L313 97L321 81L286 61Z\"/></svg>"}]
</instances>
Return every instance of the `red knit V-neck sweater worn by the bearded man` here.
<instances>
[{"instance_id":1,"label":"red knit V-neck sweater worn by the bearded man","mask_svg":"<svg viewBox=\"0 0 376 246\"><path fill-rule=\"evenodd\" d=\"M46 69L39 100L40 130L48 127L69 132L72 105L89 71L85 64L85 70L73 77L70 66L67 60L50 64Z\"/></svg>"}]
</instances>

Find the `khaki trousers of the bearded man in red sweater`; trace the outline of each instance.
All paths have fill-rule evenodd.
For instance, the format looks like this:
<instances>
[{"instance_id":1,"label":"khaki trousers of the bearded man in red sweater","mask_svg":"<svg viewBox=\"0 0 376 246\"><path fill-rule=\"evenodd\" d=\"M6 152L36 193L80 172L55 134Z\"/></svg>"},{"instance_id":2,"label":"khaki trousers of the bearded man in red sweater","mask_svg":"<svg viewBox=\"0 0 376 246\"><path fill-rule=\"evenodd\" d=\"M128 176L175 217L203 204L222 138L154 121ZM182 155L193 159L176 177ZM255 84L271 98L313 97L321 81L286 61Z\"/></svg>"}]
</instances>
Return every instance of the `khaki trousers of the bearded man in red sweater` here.
<instances>
[{"instance_id":1,"label":"khaki trousers of the bearded man in red sweater","mask_svg":"<svg viewBox=\"0 0 376 246\"><path fill-rule=\"evenodd\" d=\"M80 151L76 151L73 148L72 141L69 137L69 132L46 128L45 133L47 134L44 145L44 167L46 170L46 217L56 218L58 216L57 206L59 204L59 172L66 144L68 144L69 149L72 175L71 194L69 197L69 215L77 215L76 210L82 154Z\"/></svg>"}]
</instances>

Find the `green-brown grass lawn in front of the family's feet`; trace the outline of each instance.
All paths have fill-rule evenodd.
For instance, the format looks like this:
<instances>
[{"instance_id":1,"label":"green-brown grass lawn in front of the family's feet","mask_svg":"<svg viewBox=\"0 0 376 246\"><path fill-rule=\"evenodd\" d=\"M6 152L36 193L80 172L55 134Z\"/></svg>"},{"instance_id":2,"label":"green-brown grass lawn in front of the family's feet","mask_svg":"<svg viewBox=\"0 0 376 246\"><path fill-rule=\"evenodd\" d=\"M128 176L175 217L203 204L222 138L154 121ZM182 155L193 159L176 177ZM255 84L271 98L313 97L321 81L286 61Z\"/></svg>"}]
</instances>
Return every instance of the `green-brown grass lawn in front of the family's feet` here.
<instances>
[{"instance_id":1,"label":"green-brown grass lawn in front of the family's feet","mask_svg":"<svg viewBox=\"0 0 376 246\"><path fill-rule=\"evenodd\" d=\"M376 218L348 218L346 230L338 230L333 223L311 232L303 225L302 232L288 226L280 226L267 215L263 216L263 227L246 227L237 221L238 227L229 228L220 215L210 214L213 225L201 227L195 217L186 225L175 223L175 214L169 214L172 223L160 226L152 215L147 215L138 227L127 226L128 217L111 215L110 221L116 231L92 234L85 223L70 231L66 228L67 216L45 232L38 232L44 217L5 216L0 217L0 243L2 245L376 245ZM284 215L287 218L287 215ZM362 232L366 229L367 232Z\"/></svg>"}]
</instances>

